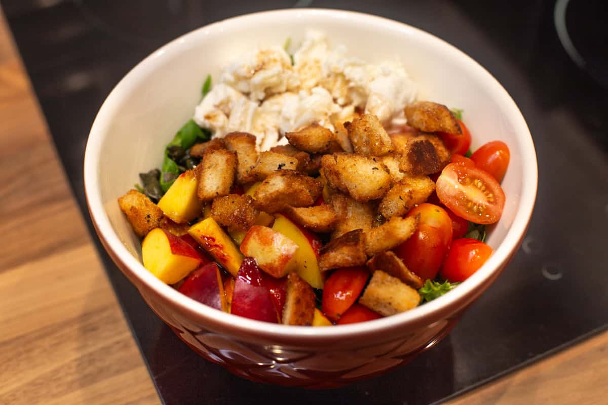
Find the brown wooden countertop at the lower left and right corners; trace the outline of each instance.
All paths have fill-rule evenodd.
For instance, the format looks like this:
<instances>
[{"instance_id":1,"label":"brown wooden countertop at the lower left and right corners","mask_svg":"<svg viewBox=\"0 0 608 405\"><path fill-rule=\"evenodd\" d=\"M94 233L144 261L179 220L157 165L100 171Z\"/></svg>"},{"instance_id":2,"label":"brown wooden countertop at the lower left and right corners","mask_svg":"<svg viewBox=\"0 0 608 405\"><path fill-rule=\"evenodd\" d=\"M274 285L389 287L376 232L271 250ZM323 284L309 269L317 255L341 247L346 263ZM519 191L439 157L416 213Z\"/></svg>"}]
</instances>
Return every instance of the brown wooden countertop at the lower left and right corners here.
<instances>
[{"instance_id":1,"label":"brown wooden countertop at the lower left and right corners","mask_svg":"<svg viewBox=\"0 0 608 405\"><path fill-rule=\"evenodd\" d=\"M0 12L0 404L159 398ZM450 404L606 403L608 332Z\"/></svg>"}]
</instances>

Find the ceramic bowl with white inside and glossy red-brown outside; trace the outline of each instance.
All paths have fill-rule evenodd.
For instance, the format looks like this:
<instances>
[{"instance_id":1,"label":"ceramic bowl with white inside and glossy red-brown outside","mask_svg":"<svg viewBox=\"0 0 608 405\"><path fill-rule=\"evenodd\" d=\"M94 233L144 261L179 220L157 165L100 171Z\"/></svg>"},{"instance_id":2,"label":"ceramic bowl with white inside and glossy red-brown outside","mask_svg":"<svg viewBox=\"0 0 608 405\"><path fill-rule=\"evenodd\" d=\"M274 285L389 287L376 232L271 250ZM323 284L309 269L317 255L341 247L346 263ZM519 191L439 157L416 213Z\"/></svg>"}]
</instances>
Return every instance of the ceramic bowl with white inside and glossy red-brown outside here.
<instances>
[{"instance_id":1,"label":"ceramic bowl with white inside and glossy red-brown outside","mask_svg":"<svg viewBox=\"0 0 608 405\"><path fill-rule=\"evenodd\" d=\"M165 285L141 262L140 241L120 212L138 173L161 165L162 150L192 117L207 73L244 50L299 43L320 29L334 44L368 61L398 56L419 98L465 111L473 148L502 140L511 163L502 186L506 204L488 243L495 252L449 294L389 318L340 327L292 327L253 321L206 307ZM100 239L145 301L190 347L245 378L329 387L367 378L409 361L454 326L463 310L516 253L536 198L534 145L505 89L474 60L426 32L389 19L337 10L278 10L216 22L148 56L112 90L89 134L85 191Z\"/></svg>"}]
</instances>

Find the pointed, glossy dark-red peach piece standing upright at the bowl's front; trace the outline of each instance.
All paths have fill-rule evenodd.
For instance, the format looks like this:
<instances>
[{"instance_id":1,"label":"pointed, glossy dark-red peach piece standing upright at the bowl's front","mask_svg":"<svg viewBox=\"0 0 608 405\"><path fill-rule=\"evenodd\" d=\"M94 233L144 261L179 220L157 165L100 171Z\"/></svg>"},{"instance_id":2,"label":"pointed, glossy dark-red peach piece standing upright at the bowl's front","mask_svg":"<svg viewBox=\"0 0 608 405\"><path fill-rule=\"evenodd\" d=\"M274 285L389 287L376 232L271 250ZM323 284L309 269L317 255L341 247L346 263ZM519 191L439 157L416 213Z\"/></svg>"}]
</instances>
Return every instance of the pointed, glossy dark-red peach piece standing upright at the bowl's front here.
<instances>
[{"instance_id":1,"label":"pointed, glossy dark-red peach piece standing upright at the bowl's front","mask_svg":"<svg viewBox=\"0 0 608 405\"><path fill-rule=\"evenodd\" d=\"M277 310L253 257L245 257L238 270L230 312L257 321L278 322Z\"/></svg>"}]
</instances>

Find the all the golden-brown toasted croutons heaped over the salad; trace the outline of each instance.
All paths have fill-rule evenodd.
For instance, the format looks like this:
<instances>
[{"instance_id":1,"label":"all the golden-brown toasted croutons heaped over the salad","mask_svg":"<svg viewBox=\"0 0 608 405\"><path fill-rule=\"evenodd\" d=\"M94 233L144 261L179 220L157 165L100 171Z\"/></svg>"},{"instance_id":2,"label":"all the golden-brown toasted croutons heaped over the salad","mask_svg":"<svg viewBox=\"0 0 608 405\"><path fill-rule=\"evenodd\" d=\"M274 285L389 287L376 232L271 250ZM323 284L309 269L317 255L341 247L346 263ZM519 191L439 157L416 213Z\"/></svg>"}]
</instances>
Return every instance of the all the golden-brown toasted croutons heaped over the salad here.
<instances>
[{"instance_id":1,"label":"all the golden-brown toasted croutons heaped over the salad","mask_svg":"<svg viewBox=\"0 0 608 405\"><path fill-rule=\"evenodd\" d=\"M441 104L420 101L405 112L408 126L391 133L375 115L355 114L335 123L335 132L317 124L289 132L289 145L265 152L245 132L199 143L190 149L201 158L193 169L198 199L229 231L249 230L261 213L282 212L307 230L328 234L321 271L367 265L373 276L359 302L384 316L409 310L420 303L423 280L391 250L416 230L418 218L404 216L434 192L429 174L451 158L430 132L460 134L461 128ZM252 196L232 193L256 182ZM127 196L121 208L138 234L161 226L156 205L133 191Z\"/></svg>"}]
</instances>

